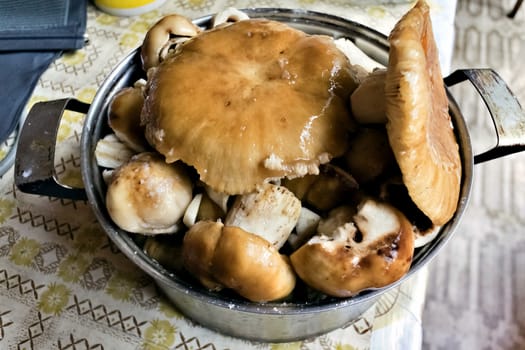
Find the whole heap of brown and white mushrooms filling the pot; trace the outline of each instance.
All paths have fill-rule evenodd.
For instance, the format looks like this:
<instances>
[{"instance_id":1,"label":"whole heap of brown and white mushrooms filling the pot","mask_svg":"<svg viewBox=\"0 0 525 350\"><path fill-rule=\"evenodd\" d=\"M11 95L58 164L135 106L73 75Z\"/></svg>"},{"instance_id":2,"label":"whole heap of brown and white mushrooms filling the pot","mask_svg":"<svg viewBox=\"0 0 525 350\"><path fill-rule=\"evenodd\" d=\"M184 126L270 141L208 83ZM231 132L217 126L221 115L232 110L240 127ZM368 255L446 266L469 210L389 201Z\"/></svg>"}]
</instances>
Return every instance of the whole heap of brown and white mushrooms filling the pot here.
<instances>
[{"instance_id":1,"label":"whole heap of brown and white mushrooms filling the pot","mask_svg":"<svg viewBox=\"0 0 525 350\"><path fill-rule=\"evenodd\" d=\"M461 180L428 12L397 23L387 67L236 9L212 28L164 17L97 144L109 215L165 266L255 302L397 281Z\"/></svg>"}]
</instances>

